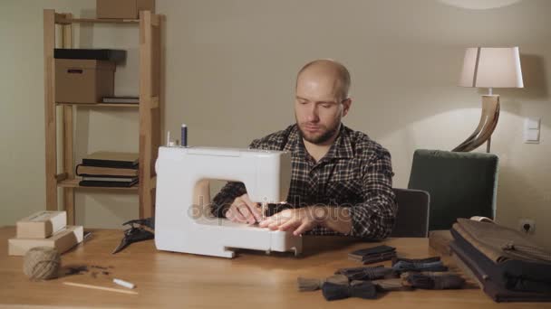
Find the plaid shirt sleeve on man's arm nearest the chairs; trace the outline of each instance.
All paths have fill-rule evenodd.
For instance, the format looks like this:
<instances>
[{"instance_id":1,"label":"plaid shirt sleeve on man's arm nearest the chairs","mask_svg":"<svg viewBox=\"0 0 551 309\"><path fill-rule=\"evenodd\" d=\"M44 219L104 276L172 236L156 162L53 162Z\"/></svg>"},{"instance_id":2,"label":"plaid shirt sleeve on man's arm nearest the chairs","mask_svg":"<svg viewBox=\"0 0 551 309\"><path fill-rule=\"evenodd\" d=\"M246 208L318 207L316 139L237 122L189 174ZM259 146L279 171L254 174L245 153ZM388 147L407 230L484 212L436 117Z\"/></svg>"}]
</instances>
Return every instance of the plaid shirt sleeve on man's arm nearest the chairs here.
<instances>
[{"instance_id":1,"label":"plaid shirt sleeve on man's arm nearest the chairs","mask_svg":"<svg viewBox=\"0 0 551 309\"><path fill-rule=\"evenodd\" d=\"M362 176L363 201L350 207L351 236L384 239L391 234L396 216L393 174L391 154L382 147L377 149Z\"/></svg>"}]
</instances>

